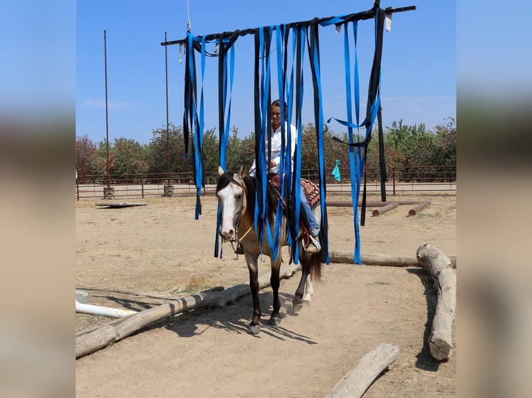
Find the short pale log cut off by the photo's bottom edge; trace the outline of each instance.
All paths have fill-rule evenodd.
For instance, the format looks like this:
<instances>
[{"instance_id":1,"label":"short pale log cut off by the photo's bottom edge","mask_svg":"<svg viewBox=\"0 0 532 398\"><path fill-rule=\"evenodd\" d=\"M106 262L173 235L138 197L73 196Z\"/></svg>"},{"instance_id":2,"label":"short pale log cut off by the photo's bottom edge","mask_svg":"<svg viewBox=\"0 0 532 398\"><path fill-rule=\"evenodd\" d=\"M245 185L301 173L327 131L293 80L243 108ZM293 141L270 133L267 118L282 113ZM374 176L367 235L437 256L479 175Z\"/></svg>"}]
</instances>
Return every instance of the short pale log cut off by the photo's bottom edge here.
<instances>
[{"instance_id":1,"label":"short pale log cut off by the photo's bottom edge","mask_svg":"<svg viewBox=\"0 0 532 398\"><path fill-rule=\"evenodd\" d=\"M365 354L356 366L333 387L325 398L362 397L376 377L397 359L399 347L391 344L379 344Z\"/></svg>"}]
</instances>

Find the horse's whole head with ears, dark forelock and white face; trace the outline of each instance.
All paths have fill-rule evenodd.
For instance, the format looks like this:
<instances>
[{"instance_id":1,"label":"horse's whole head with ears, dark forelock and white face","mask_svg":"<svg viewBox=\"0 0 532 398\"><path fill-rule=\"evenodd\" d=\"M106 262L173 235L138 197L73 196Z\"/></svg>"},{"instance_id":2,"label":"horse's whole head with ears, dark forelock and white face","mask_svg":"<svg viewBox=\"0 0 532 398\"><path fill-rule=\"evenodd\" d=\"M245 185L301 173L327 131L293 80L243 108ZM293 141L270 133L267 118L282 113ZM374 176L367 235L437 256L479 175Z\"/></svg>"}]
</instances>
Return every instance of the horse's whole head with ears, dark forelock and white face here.
<instances>
[{"instance_id":1,"label":"horse's whole head with ears, dark forelock and white face","mask_svg":"<svg viewBox=\"0 0 532 398\"><path fill-rule=\"evenodd\" d=\"M245 171L243 166L240 168L240 173L224 171L222 167L219 167L218 173L216 196L222 210L222 224L218 232L225 241L235 241L238 239L240 218L245 211Z\"/></svg>"}]
</instances>

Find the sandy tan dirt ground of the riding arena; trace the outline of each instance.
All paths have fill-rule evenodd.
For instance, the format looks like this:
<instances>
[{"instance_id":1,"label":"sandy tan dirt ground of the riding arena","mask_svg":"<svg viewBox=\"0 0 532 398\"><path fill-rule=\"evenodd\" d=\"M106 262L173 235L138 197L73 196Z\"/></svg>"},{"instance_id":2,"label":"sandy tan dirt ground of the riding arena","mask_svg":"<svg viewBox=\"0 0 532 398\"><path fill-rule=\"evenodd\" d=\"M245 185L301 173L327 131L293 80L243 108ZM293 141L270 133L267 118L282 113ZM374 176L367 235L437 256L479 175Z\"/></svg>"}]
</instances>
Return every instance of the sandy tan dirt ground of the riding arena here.
<instances>
[{"instance_id":1,"label":"sandy tan dirt ground of the riding arena","mask_svg":"<svg viewBox=\"0 0 532 398\"><path fill-rule=\"evenodd\" d=\"M431 206L416 216L408 216L409 205L378 217L368 208L360 227L363 254L411 257L431 243L456 255L455 194L388 200L431 200ZM191 197L116 200L147 203L122 209L97 207L101 201L76 203L76 289L89 293L89 304L142 310L214 286L247 284L244 257L237 259L231 245L224 243L223 259L213 257L214 196L201 198L199 220ZM353 252L353 210L328 207L328 214L329 250ZM269 272L267 257L259 272ZM379 343L397 345L399 356L364 397L456 395L456 347L440 363L426 345L436 296L424 270L330 263L314 284L312 304L293 313L298 282L299 273L281 282L277 327L266 323L271 289L261 291L258 336L246 332L252 308L246 295L78 359L76 397L324 397ZM76 320L78 332L112 319L76 314Z\"/></svg>"}]
</instances>

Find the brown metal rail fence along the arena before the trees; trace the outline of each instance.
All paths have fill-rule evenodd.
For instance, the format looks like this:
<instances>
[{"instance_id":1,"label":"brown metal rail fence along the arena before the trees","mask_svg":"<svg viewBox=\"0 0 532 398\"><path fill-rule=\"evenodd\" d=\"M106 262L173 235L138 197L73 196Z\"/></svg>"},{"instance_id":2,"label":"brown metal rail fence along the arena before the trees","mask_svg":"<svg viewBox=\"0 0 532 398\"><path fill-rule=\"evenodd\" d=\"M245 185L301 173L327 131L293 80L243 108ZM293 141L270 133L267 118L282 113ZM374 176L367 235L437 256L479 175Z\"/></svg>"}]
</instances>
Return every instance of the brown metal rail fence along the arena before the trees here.
<instances>
[{"instance_id":1,"label":"brown metal rail fence along the arena before the trees","mask_svg":"<svg viewBox=\"0 0 532 398\"><path fill-rule=\"evenodd\" d=\"M317 182L317 170L302 170L301 178ZM341 180L331 173L326 175L327 193L351 193L349 168L340 168ZM381 192L379 168L365 168L368 192ZM217 173L205 173L201 194L214 194ZM390 167L385 182L386 193L401 192L454 192L456 191L456 166ZM190 173L78 175L76 200L153 198L160 196L190 196L197 188Z\"/></svg>"}]
</instances>

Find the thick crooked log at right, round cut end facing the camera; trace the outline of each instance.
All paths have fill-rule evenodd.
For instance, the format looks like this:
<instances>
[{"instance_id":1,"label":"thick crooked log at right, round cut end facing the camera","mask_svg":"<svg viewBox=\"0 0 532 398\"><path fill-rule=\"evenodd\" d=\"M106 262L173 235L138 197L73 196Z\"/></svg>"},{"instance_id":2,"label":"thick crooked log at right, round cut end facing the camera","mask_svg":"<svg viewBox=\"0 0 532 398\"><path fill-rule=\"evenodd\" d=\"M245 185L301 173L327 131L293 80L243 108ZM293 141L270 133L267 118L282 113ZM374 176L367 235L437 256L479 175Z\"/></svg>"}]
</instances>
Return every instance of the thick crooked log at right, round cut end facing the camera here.
<instances>
[{"instance_id":1,"label":"thick crooked log at right, round cut end facing the camera","mask_svg":"<svg viewBox=\"0 0 532 398\"><path fill-rule=\"evenodd\" d=\"M417 261L431 272L434 288L438 293L438 304L427 342L433 358L442 361L449 358L452 348L451 328L456 309L456 272L449 257L433 245L419 246Z\"/></svg>"}]
</instances>

